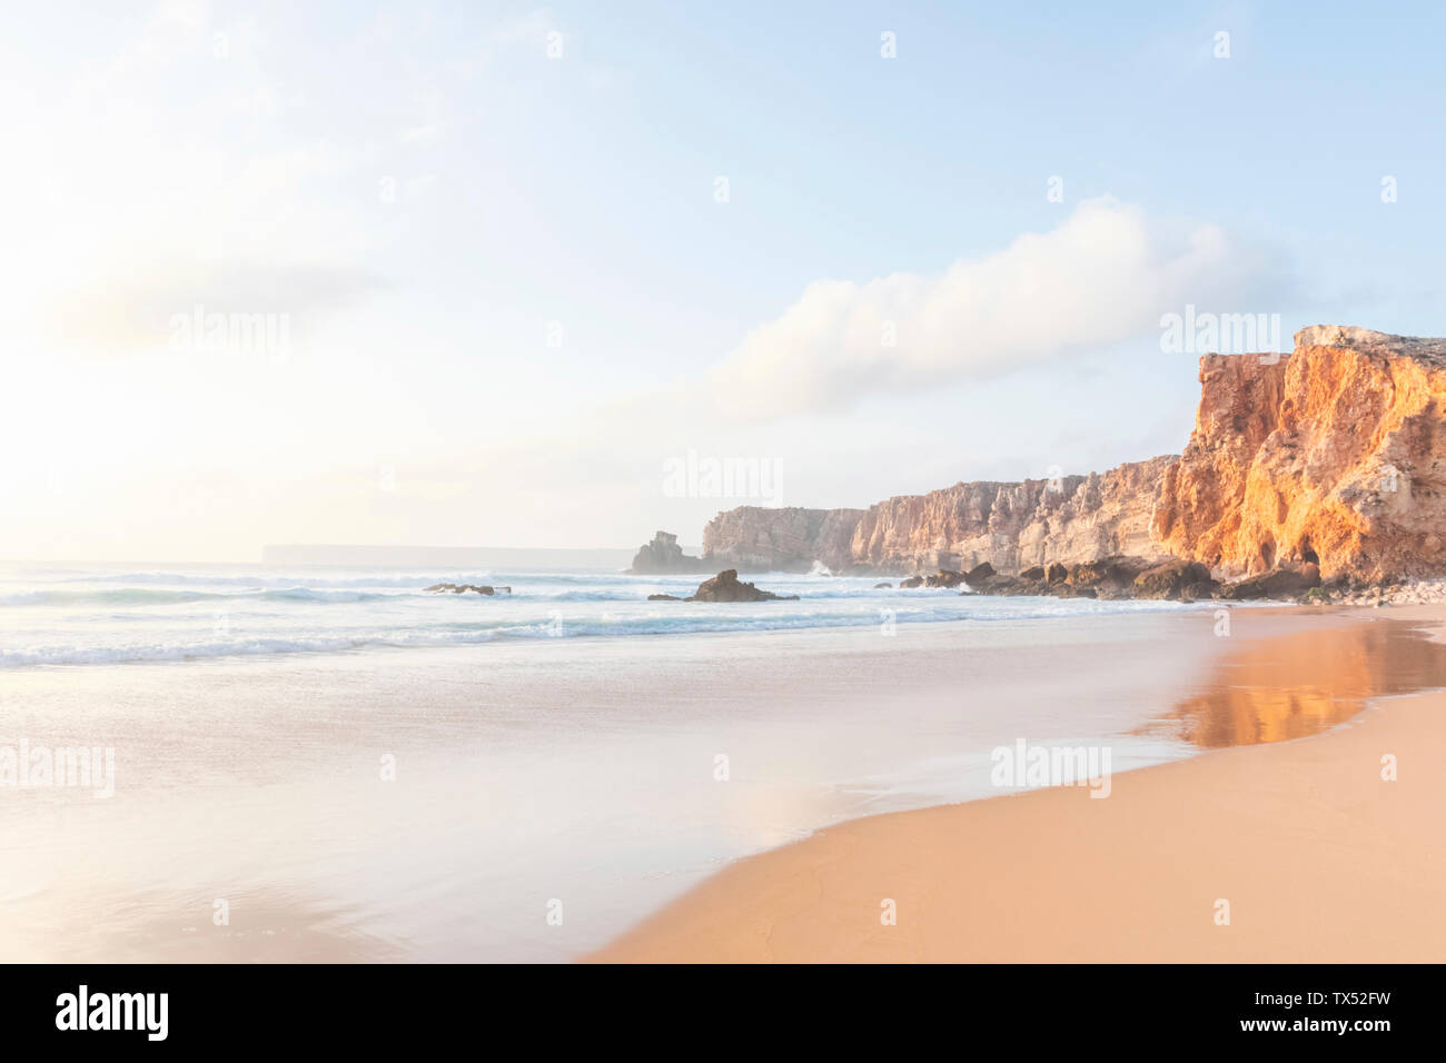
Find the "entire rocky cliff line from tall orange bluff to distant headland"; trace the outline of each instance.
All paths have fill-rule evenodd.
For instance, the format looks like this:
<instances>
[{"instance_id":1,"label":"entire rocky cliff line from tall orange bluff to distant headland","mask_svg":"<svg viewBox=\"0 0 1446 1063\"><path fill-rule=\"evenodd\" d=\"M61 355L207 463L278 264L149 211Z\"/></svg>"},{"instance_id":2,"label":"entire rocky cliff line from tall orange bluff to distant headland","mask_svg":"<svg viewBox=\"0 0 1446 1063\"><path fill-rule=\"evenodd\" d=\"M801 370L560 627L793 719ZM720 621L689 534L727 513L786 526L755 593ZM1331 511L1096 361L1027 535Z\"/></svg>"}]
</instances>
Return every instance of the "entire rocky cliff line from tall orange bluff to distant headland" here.
<instances>
[{"instance_id":1,"label":"entire rocky cliff line from tall orange bluff to distant headland","mask_svg":"<svg viewBox=\"0 0 1446 1063\"><path fill-rule=\"evenodd\" d=\"M1219 577L1314 563L1379 583L1446 573L1446 340L1314 325L1293 354L1207 354L1178 457L973 482L860 509L719 513L706 558L746 571L1001 573L1113 555Z\"/></svg>"}]
</instances>

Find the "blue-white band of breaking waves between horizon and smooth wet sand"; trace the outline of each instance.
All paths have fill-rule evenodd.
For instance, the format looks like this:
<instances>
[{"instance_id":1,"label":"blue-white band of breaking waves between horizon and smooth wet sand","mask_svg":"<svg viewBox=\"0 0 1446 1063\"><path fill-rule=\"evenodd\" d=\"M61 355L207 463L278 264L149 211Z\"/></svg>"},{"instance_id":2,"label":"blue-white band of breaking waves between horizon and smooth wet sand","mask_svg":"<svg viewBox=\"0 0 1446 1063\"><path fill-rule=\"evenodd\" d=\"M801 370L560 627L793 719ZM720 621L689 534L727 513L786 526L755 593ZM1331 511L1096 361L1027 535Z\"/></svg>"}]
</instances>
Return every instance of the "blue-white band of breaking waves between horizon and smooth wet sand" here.
<instances>
[{"instance_id":1,"label":"blue-white band of breaking waves between horizon and smooth wet sand","mask_svg":"<svg viewBox=\"0 0 1446 1063\"><path fill-rule=\"evenodd\" d=\"M746 576L798 602L648 602L691 594L701 576L607 571L110 565L0 568L0 668L354 654L542 638L629 638L947 620L1028 620L1190 609L1170 602L969 597L875 589L897 580ZM425 593L435 583L510 587ZM1199 607L1199 606L1196 606Z\"/></svg>"}]
</instances>

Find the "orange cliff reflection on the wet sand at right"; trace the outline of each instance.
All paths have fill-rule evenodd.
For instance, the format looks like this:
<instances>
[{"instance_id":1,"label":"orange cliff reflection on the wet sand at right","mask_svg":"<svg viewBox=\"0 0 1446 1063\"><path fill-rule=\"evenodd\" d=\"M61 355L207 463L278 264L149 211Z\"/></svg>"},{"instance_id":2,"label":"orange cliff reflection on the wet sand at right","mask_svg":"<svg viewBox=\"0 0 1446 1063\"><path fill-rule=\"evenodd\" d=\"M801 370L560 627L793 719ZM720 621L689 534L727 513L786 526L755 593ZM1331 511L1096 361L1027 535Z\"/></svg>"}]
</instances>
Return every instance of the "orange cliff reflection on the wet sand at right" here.
<instances>
[{"instance_id":1,"label":"orange cliff reflection on the wet sand at right","mask_svg":"<svg viewBox=\"0 0 1446 1063\"><path fill-rule=\"evenodd\" d=\"M1406 620L1371 619L1242 642L1212 681L1139 733L1206 749L1316 735L1372 697L1446 687L1446 645Z\"/></svg>"}]
</instances>

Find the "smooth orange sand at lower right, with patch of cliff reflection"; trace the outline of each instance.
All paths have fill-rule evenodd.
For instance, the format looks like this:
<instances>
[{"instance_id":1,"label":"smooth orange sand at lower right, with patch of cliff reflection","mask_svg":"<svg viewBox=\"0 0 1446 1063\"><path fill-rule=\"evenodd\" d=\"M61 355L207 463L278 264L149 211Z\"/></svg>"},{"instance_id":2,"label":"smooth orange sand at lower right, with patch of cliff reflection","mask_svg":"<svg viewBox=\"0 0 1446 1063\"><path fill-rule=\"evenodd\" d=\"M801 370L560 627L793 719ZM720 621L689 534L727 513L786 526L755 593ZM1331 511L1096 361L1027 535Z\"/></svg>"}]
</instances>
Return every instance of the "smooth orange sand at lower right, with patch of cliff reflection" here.
<instances>
[{"instance_id":1,"label":"smooth orange sand at lower right, with patch of cliff reflection","mask_svg":"<svg viewBox=\"0 0 1446 1063\"><path fill-rule=\"evenodd\" d=\"M1443 620L1340 613L1387 615ZM1378 651L1246 648L1222 686L1241 712L1187 726L1264 743L1119 774L1108 800L1051 788L853 820L730 865L591 959L1440 962L1446 694L1379 697L1401 665ZM1371 707L1268 740L1342 694Z\"/></svg>"}]
</instances>

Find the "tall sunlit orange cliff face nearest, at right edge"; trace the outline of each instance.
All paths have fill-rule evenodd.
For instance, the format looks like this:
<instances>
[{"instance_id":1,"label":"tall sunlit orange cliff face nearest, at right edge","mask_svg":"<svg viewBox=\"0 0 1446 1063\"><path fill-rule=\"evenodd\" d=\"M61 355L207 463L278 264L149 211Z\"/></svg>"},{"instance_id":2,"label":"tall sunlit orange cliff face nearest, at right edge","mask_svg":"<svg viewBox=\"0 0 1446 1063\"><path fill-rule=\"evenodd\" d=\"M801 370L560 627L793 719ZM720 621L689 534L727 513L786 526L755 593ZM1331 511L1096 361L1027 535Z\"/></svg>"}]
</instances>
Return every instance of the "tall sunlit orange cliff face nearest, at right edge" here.
<instances>
[{"instance_id":1,"label":"tall sunlit orange cliff face nearest, at right edge","mask_svg":"<svg viewBox=\"0 0 1446 1063\"><path fill-rule=\"evenodd\" d=\"M1314 325L1296 351L1200 359L1200 408L1163 479L1157 545L1220 576L1439 574L1446 341Z\"/></svg>"}]
</instances>

